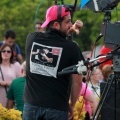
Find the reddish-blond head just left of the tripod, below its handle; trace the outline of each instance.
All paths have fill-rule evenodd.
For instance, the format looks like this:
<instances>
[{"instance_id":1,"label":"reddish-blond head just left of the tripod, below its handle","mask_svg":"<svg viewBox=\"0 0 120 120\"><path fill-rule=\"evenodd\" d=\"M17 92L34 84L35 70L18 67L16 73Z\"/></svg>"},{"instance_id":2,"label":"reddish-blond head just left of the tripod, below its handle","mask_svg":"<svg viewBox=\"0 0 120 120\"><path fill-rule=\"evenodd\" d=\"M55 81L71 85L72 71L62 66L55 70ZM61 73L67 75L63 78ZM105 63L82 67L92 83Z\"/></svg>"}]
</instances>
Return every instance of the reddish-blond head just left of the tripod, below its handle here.
<instances>
[{"instance_id":1,"label":"reddish-blond head just left of the tripod, below its handle","mask_svg":"<svg viewBox=\"0 0 120 120\"><path fill-rule=\"evenodd\" d=\"M112 73L113 73L112 65L107 64L107 65L103 66L103 68L102 68L102 75L103 75L103 77L104 77L105 80Z\"/></svg>"}]
</instances>

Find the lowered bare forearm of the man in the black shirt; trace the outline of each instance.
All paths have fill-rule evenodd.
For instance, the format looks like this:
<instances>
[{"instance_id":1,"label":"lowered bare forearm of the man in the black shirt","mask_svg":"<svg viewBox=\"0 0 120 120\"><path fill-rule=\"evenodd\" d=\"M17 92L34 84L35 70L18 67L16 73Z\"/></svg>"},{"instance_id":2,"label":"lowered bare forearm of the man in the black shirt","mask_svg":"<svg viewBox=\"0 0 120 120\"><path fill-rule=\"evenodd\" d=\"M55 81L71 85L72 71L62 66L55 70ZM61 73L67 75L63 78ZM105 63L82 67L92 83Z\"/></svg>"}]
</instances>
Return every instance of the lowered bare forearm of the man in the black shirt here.
<instances>
[{"instance_id":1,"label":"lowered bare forearm of the man in the black shirt","mask_svg":"<svg viewBox=\"0 0 120 120\"><path fill-rule=\"evenodd\" d=\"M73 117L74 106L80 95L81 88L82 88L82 75L73 74L71 94L70 94L70 100L69 100L69 119Z\"/></svg>"}]
</instances>

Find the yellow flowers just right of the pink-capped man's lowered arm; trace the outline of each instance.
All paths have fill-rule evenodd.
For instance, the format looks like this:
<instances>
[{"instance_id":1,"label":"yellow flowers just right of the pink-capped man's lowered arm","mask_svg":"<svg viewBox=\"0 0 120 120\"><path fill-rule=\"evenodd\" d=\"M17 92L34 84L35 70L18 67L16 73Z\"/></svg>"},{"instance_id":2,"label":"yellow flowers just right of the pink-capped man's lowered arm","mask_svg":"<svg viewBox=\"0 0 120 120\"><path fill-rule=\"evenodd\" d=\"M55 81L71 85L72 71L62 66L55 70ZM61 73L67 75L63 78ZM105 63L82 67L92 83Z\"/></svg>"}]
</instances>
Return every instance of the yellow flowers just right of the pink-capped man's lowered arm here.
<instances>
[{"instance_id":1,"label":"yellow flowers just right of the pink-capped man's lowered arm","mask_svg":"<svg viewBox=\"0 0 120 120\"><path fill-rule=\"evenodd\" d=\"M74 107L74 117L73 120L84 120L85 119L85 104L83 96L79 97Z\"/></svg>"}]
</instances>

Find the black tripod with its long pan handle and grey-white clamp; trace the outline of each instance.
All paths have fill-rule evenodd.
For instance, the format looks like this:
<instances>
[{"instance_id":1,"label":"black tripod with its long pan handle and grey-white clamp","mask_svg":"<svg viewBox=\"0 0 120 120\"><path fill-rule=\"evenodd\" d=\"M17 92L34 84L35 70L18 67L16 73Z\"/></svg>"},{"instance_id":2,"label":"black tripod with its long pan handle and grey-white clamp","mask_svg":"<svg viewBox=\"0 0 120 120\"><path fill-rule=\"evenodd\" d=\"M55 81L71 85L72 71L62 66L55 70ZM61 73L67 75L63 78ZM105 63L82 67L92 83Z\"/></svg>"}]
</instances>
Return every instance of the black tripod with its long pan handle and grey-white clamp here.
<instances>
[{"instance_id":1,"label":"black tripod with its long pan handle and grey-white clamp","mask_svg":"<svg viewBox=\"0 0 120 120\"><path fill-rule=\"evenodd\" d=\"M97 106L97 109L95 111L95 114L93 115L93 118L92 120L97 120L100 112L101 112L101 109L104 105L104 102L106 100L106 97L109 93L109 90L111 88L111 85L114 83L115 84L115 88L116 88L116 85L118 83L120 83L120 52L119 52L119 49L120 47L116 48L115 50L111 51L110 53L108 53L107 55L103 55L103 56L99 56L95 59L88 59L86 61L81 61L79 62L79 64L77 65L73 65L73 66L70 66L70 67L67 67L67 68L64 68L61 72L58 72L58 76L60 75L66 75L66 74L83 74L85 75L86 74L86 68L88 68L90 66L90 70L92 71L94 67L102 64L103 62L106 62L107 60L110 60L112 59L113 61L113 71L114 71L114 74L112 75L111 79L108 80L106 86L104 87L104 90L102 92L102 95L101 95L101 98L100 98L100 101L99 101L99 104ZM96 60L99 60L101 58L107 58L106 60L104 60L103 62L97 62L95 64L92 64L94 61ZM84 68L84 69L83 69ZM85 74L84 74L85 73ZM115 89L115 101L116 101L116 89ZM114 120L118 120L117 119L117 110L116 110L116 102L115 102L115 106L114 106Z\"/></svg>"}]
</instances>

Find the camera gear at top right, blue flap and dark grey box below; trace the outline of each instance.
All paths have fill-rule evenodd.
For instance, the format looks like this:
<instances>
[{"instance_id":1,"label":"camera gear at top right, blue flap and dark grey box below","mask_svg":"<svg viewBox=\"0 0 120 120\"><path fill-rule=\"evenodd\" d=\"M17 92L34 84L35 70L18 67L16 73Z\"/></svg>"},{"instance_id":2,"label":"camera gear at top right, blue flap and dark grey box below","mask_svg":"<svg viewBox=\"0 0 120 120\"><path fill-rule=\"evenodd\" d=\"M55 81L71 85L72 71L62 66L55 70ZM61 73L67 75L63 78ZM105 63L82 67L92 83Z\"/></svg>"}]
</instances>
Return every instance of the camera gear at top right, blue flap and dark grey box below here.
<instances>
[{"instance_id":1,"label":"camera gear at top right, blue flap and dark grey box below","mask_svg":"<svg viewBox=\"0 0 120 120\"><path fill-rule=\"evenodd\" d=\"M120 46L120 21L111 22L111 12L117 7L120 0L82 0L82 9L91 9L95 13L105 12L100 34L104 37L105 46L117 48Z\"/></svg>"}]
</instances>

